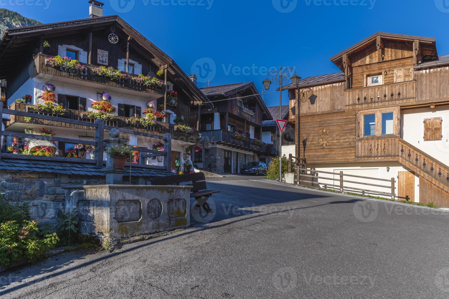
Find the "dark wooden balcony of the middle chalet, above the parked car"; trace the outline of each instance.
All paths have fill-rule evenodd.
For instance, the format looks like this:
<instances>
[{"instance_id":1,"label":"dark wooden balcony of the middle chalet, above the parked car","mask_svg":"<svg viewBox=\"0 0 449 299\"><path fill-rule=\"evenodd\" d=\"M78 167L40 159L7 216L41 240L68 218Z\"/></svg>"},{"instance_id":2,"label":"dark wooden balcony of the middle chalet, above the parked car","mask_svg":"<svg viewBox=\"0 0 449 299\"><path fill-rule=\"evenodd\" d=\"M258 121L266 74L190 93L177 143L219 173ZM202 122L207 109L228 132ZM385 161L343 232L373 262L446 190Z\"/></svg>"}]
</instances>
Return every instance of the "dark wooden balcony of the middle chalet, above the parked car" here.
<instances>
[{"instance_id":1,"label":"dark wooden balcony of the middle chalet, above the parked car","mask_svg":"<svg viewBox=\"0 0 449 299\"><path fill-rule=\"evenodd\" d=\"M247 150L250 152L266 152L266 144L255 144L251 139L248 138L245 140L235 138L234 133L225 130L202 131L200 142L222 144L233 148ZM272 149L269 149L269 152L271 151Z\"/></svg>"}]
</instances>

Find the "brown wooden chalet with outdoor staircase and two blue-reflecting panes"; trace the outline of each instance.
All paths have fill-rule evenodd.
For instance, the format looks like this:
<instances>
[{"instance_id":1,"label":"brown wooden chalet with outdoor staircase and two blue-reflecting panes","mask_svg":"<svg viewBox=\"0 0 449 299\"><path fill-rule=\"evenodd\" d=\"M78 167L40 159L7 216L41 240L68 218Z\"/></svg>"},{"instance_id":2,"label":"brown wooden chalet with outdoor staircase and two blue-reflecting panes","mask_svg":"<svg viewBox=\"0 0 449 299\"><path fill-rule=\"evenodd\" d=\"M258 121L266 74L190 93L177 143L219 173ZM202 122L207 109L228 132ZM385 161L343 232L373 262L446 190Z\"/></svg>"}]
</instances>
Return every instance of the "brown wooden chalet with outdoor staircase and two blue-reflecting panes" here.
<instances>
[{"instance_id":1,"label":"brown wooden chalet with outdoor staircase and two blue-reflecting panes","mask_svg":"<svg viewBox=\"0 0 449 299\"><path fill-rule=\"evenodd\" d=\"M395 178L396 199L449 207L449 56L436 39L379 32L330 60L341 72L285 87L296 156L308 169Z\"/></svg>"}]
</instances>

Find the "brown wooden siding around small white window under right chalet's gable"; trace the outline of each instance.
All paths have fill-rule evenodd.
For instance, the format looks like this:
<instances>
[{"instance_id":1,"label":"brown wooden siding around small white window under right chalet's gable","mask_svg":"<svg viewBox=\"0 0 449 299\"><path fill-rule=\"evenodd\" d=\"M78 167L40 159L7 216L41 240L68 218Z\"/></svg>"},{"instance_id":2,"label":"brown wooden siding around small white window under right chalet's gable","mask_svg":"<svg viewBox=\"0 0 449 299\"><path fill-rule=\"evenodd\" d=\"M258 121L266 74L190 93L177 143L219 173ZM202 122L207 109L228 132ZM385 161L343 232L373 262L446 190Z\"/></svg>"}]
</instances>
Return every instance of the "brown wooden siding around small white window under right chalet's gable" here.
<instances>
[{"instance_id":1,"label":"brown wooden siding around small white window under right chalet's gable","mask_svg":"<svg viewBox=\"0 0 449 299\"><path fill-rule=\"evenodd\" d=\"M394 83L396 70L404 70L404 79L401 81L411 80L413 57L352 67L352 88L367 86L366 77L377 74L383 75L383 84ZM385 71L387 74L384 74Z\"/></svg>"}]
</instances>

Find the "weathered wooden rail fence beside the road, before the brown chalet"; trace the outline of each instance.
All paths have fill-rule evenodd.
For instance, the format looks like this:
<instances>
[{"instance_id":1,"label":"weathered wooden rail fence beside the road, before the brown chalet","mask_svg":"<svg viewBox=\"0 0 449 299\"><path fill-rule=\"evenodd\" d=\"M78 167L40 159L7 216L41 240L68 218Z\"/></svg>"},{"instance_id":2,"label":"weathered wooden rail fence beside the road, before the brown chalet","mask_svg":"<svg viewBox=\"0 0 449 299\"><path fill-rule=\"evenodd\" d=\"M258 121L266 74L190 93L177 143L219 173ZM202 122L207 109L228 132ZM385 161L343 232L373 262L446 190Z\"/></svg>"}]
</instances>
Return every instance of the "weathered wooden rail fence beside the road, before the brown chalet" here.
<instances>
[{"instance_id":1,"label":"weathered wooden rail fence beside the road, before the brown chalet","mask_svg":"<svg viewBox=\"0 0 449 299\"><path fill-rule=\"evenodd\" d=\"M295 161L293 161L292 159L295 158ZM299 163L298 161L302 161L304 163ZM292 156L290 154L289 156L289 172L291 172L292 170L292 166L296 166L296 178L295 178L295 184L300 185L300 182L303 183L309 183L309 184L318 184L318 185L325 185L325 186L331 186L334 187L335 189L339 190L340 192L343 191L356 191L356 192L368 192L368 193L374 193L374 194L382 194L382 195L390 195L392 200L395 200L396 197L396 187L395 187L395 183L396 180L394 178L391 179L384 179L384 178L372 178L372 177L364 177L364 176L360 176L360 175L354 175L354 174L346 174L343 171L340 171L339 173L335 173L335 172L329 172L329 171L321 171L321 170L313 170L313 169L306 169L305 167L303 167L302 165L305 165L305 160L304 159L298 159L295 156ZM323 174L331 174L333 177L329 178L329 177L321 177L318 176L320 173ZM337 177L337 178L335 178ZM304 180L301 178L308 178L308 180ZM327 180L327 181L332 181L331 183L327 183L327 182L313 182L313 179L317 179L317 180ZM346 179L349 178L349 179ZM360 182L360 180L354 180L351 178L356 178L356 179L368 179L368 180L373 180L373 181L380 181L380 182L389 182L389 185L380 185L379 184L375 184L375 183L370 183L370 182ZM336 184L335 182L338 182L338 184ZM345 184L346 183L346 184ZM357 187L354 186L348 186L347 184L356 184ZM358 186L358 185L362 185L362 186L368 186L368 187L379 187L382 189L386 189L387 191L379 191L379 190L370 190L365 188L362 188L362 186Z\"/></svg>"}]
</instances>

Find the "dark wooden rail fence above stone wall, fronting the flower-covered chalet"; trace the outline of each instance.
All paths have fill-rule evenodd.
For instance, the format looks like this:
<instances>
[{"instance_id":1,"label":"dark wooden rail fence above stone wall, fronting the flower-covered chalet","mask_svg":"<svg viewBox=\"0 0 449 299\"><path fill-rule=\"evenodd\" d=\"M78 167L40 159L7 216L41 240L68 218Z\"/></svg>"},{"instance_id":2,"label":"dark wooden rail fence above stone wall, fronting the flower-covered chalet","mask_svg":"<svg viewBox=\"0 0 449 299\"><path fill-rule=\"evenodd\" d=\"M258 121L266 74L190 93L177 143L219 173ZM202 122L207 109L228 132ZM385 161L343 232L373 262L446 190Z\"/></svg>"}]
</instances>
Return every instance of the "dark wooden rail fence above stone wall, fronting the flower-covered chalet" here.
<instances>
[{"instance_id":1,"label":"dark wooden rail fence above stone wall, fronting the flower-covered chalet","mask_svg":"<svg viewBox=\"0 0 449 299\"><path fill-rule=\"evenodd\" d=\"M48 140L48 141L57 141L57 142L64 142L64 143L81 143L86 145L93 145L95 147L94 156L95 160L89 160L89 159L80 159L80 158L67 158L67 157L52 157L52 156L32 156L32 155L17 155L13 153L1 153L0 151L0 160L2 158L13 158L13 159L28 159L28 160L48 160L48 161L66 161L66 162L73 162L73 163L87 163L87 164L96 164L97 166L103 166L103 139L105 138L104 133L105 130L111 130L111 129L117 129L122 133L125 134L134 134L134 135L141 135L145 137L155 138L155 139L162 139L164 142L164 149L166 149L165 152L159 152L152 149L147 148L141 148L141 147L132 147L132 150L139 151L139 152L145 152L148 155L145 157L155 157L155 156L165 156L164 159L164 165L163 166L156 166L156 165L145 165L143 158L141 158L140 161L138 161L138 164L133 164L133 167L141 167L141 168L151 168L151 169L164 169L164 170L171 170L171 148L172 148L172 138L171 134L167 133L164 136L159 136L155 134L148 134L143 133L139 131L124 129L124 128L115 128L113 126L105 126L105 121L97 119L95 123L90 123L86 121L80 121L80 120L74 120L74 119L67 119L67 118L61 118L61 117L55 117L50 115L43 115L43 114L36 114L36 113L30 113L30 112L24 112L24 111L17 111L12 109L4 109L3 106L0 105L0 115L3 115L3 113L15 115L15 116L21 116L21 117L34 117L39 119L44 119L48 121L63 121L69 124L79 125L79 126L91 126L95 129L95 139L94 141L87 141L87 140L79 140L79 139L70 139L70 138L62 138L62 137L54 137L54 136L43 136L38 134L27 134L27 133L19 133L19 132L9 132L4 131L0 127L0 136L12 136L12 137L22 137L22 138L30 138L30 139L40 139L40 140Z\"/></svg>"}]
</instances>

